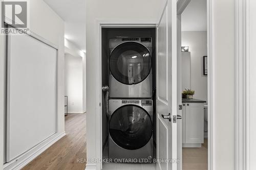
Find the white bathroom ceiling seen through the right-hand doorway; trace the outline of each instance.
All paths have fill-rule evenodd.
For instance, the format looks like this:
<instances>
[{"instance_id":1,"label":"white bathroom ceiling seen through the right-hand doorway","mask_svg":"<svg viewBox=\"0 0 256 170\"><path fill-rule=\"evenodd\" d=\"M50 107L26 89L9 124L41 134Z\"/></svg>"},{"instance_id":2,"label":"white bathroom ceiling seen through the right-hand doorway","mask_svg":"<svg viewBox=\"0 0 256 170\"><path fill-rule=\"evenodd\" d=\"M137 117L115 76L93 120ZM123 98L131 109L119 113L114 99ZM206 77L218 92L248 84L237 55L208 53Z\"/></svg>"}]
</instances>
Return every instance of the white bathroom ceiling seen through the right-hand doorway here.
<instances>
[{"instance_id":1,"label":"white bathroom ceiling seen through the right-hand doorway","mask_svg":"<svg viewBox=\"0 0 256 170\"><path fill-rule=\"evenodd\" d=\"M191 0L181 15L182 31L207 30L207 0Z\"/></svg>"}]
</instances>

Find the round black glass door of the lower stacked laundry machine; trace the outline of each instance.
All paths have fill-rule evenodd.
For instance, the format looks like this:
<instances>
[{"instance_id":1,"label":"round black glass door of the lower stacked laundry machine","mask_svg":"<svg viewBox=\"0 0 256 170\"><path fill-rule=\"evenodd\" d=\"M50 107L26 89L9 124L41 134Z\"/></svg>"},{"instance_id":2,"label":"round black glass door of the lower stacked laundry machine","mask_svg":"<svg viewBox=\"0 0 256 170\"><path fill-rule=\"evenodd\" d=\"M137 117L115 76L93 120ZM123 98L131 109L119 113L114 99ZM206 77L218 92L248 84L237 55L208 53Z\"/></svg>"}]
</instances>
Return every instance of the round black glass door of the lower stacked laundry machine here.
<instances>
[{"instance_id":1,"label":"round black glass door of the lower stacked laundry machine","mask_svg":"<svg viewBox=\"0 0 256 170\"><path fill-rule=\"evenodd\" d=\"M150 115L136 105L118 108L111 116L109 131L114 142L127 150L137 150L152 136Z\"/></svg>"}]
</instances>

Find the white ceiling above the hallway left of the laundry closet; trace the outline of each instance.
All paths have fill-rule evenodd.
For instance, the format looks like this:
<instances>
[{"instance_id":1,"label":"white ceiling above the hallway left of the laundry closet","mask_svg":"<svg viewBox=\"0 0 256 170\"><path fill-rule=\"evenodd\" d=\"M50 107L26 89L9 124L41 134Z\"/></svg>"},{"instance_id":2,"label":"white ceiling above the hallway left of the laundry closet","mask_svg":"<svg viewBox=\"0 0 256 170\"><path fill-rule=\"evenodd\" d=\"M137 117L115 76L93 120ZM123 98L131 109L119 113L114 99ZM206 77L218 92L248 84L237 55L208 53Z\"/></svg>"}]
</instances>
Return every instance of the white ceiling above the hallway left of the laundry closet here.
<instances>
[{"instance_id":1,"label":"white ceiling above the hallway left of the laundry closet","mask_svg":"<svg viewBox=\"0 0 256 170\"><path fill-rule=\"evenodd\" d=\"M64 21L65 38L86 49L86 0L44 0Z\"/></svg>"}]
</instances>

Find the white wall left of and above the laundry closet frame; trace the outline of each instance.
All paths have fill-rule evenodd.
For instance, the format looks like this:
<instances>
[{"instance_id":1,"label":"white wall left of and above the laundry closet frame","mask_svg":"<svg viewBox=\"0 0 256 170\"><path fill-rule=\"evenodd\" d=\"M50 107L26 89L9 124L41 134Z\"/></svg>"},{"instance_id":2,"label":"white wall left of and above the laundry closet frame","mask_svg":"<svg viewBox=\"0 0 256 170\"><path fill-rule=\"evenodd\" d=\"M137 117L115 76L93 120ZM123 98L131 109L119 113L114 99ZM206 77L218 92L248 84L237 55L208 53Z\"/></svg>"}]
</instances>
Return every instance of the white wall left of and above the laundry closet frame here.
<instances>
[{"instance_id":1,"label":"white wall left of and above the laundry closet frame","mask_svg":"<svg viewBox=\"0 0 256 170\"><path fill-rule=\"evenodd\" d=\"M87 158L96 157L96 149L101 146L96 146L96 136L99 134L96 132L95 120L99 113L96 113L96 107L99 107L99 103L95 102L95 78L99 75L95 75L95 61L99 50L96 43L96 20L116 20L116 21L133 21L139 23L154 22L157 23L159 16L159 0L131 0L131 1L119 1L119 0L88 0L86 1L86 25L87 25ZM146 10L145 10L146 9ZM98 11L98 12L95 12ZM143 12L150 11L150 12ZM98 68L99 69L99 68ZM90 99L90 100L89 100ZM100 136L99 136L100 137ZM88 164L88 168L89 168Z\"/></svg>"}]
</instances>

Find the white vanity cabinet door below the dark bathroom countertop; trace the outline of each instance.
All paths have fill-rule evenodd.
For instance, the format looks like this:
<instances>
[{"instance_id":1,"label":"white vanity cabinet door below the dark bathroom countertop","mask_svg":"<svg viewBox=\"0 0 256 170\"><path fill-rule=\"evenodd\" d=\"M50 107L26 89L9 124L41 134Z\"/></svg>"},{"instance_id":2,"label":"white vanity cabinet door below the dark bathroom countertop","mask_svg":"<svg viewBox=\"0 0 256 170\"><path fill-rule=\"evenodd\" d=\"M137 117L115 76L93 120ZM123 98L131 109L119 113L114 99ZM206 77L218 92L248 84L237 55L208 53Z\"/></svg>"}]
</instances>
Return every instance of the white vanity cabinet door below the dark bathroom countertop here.
<instances>
[{"instance_id":1,"label":"white vanity cabinet door below the dark bathroom countertop","mask_svg":"<svg viewBox=\"0 0 256 170\"><path fill-rule=\"evenodd\" d=\"M203 143L204 108L203 104L187 103L185 113L185 143Z\"/></svg>"}]
</instances>

